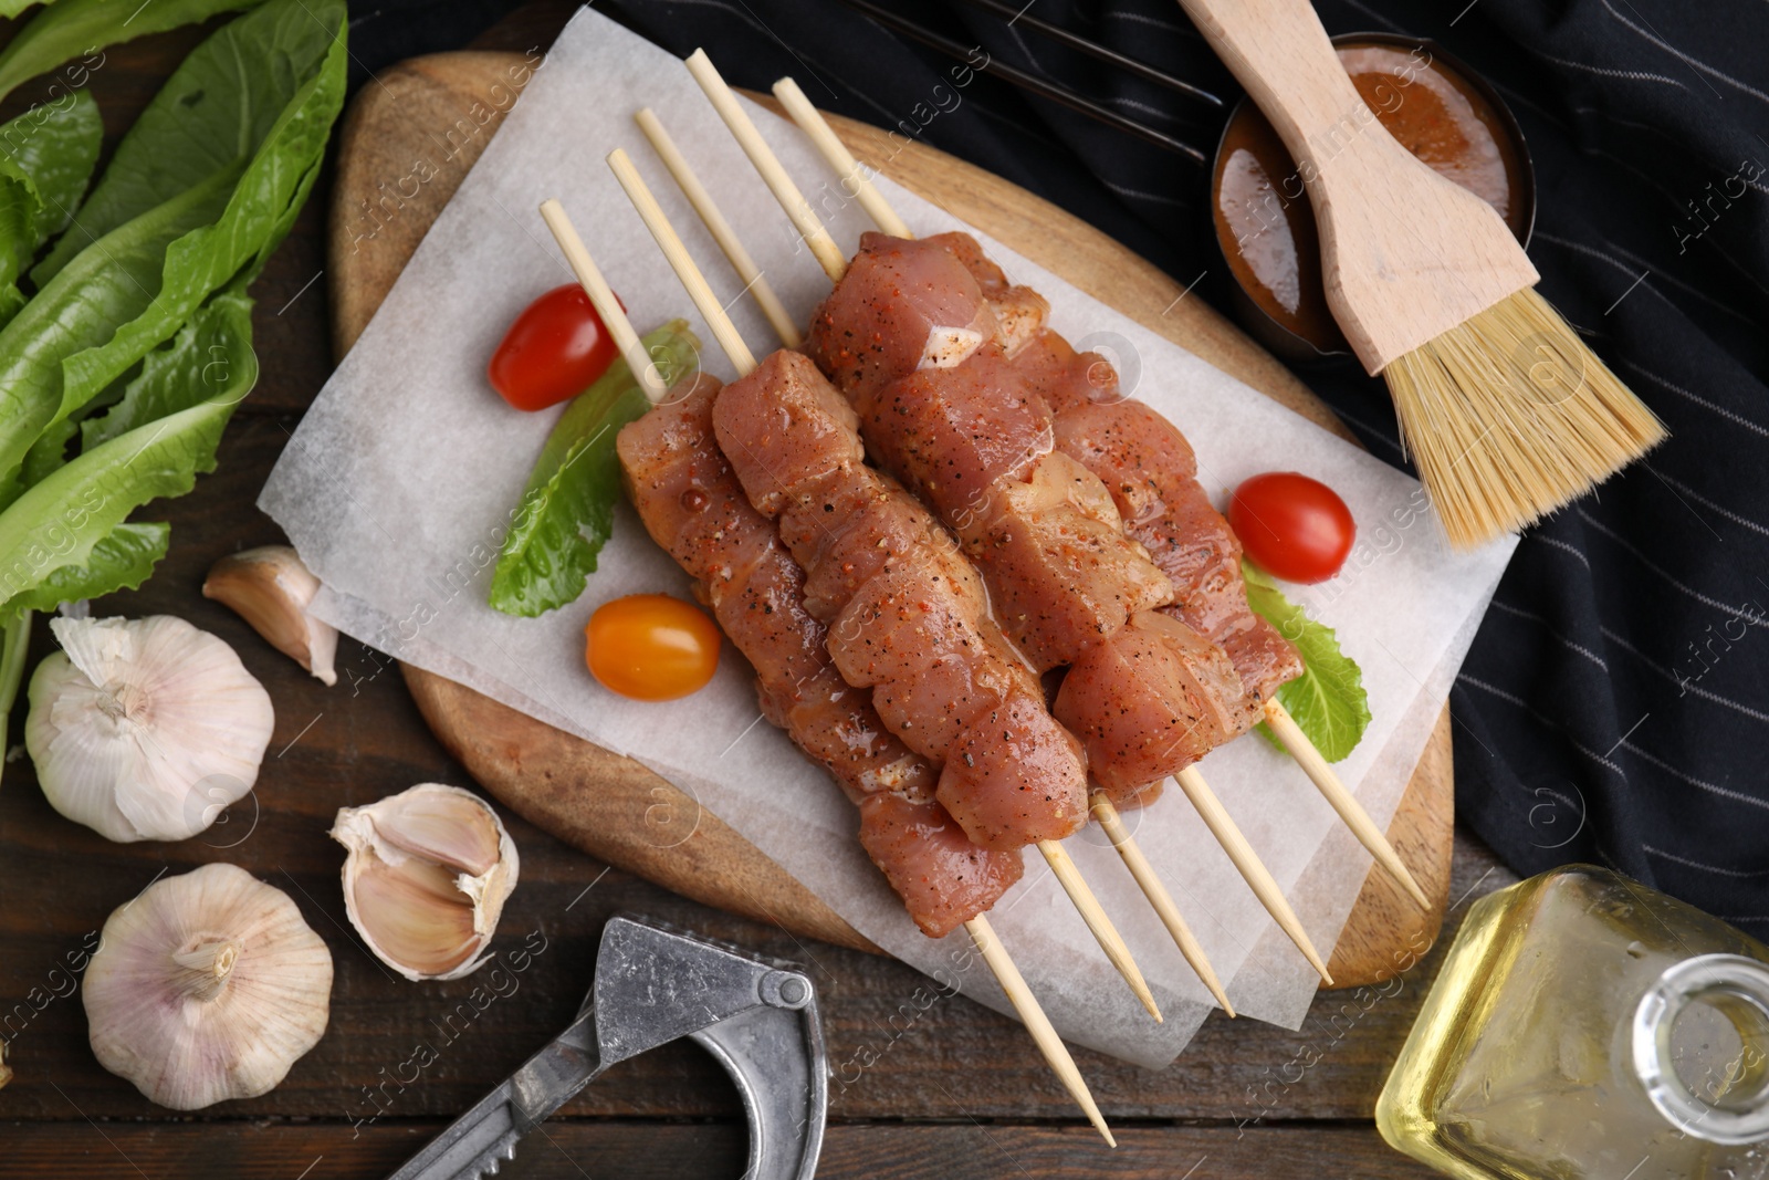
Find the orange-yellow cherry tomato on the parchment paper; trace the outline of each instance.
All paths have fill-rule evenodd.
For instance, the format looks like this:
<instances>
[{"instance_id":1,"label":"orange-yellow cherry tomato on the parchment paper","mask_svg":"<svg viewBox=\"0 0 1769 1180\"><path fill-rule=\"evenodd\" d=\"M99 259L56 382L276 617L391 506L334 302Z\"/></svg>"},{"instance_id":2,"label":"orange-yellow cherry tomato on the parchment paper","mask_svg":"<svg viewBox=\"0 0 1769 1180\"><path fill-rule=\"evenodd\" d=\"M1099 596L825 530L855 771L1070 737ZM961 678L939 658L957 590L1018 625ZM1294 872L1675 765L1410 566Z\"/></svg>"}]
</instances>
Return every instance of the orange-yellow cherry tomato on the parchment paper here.
<instances>
[{"instance_id":1,"label":"orange-yellow cherry tomato on the parchment paper","mask_svg":"<svg viewBox=\"0 0 1769 1180\"><path fill-rule=\"evenodd\" d=\"M635 701L686 697L718 667L718 624L669 594L628 594L596 607L584 639L591 676Z\"/></svg>"}]
</instances>

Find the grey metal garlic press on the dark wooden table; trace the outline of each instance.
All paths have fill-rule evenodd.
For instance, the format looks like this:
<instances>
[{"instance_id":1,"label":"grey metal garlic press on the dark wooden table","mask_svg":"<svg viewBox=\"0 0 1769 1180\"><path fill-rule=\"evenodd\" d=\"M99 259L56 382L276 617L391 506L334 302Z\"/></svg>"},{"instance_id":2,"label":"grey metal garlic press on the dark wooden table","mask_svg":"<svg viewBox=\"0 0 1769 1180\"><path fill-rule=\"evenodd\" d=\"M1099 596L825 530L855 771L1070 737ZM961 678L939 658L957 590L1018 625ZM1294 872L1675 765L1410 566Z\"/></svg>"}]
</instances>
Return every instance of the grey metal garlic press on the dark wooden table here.
<instances>
[{"instance_id":1,"label":"grey metal garlic press on the dark wooden table","mask_svg":"<svg viewBox=\"0 0 1769 1180\"><path fill-rule=\"evenodd\" d=\"M601 931L577 1019L391 1180L478 1180L605 1069L690 1037L731 1074L750 1116L745 1180L810 1180L830 1069L810 977L637 918Z\"/></svg>"}]
</instances>

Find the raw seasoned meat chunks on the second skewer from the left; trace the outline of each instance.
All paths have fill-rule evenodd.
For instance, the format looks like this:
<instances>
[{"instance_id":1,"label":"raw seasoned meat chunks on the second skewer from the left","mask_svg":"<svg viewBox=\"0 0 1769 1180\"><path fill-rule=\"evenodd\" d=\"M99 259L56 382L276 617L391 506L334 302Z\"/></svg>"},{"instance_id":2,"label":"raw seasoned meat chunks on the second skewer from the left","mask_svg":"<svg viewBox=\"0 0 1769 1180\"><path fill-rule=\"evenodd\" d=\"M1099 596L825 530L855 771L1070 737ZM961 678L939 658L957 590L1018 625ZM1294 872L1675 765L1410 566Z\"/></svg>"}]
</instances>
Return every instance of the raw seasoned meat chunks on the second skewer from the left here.
<instances>
[{"instance_id":1,"label":"raw seasoned meat chunks on the second skewer from the left","mask_svg":"<svg viewBox=\"0 0 1769 1180\"><path fill-rule=\"evenodd\" d=\"M865 465L854 414L816 364L766 357L718 395L713 428L808 571L831 662L941 768L936 794L971 840L1019 847L1086 823L1081 745L1044 708L957 545Z\"/></svg>"}]
</instances>

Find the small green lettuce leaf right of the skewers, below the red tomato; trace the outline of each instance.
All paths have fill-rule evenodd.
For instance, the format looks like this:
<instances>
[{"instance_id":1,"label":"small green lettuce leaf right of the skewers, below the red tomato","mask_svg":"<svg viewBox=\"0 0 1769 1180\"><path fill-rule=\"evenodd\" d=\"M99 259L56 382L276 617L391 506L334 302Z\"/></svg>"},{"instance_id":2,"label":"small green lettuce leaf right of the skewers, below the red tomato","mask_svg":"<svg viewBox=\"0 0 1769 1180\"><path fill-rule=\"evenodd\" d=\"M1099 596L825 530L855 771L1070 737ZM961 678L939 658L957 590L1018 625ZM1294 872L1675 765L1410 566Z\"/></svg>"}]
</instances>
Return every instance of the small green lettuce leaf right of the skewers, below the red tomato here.
<instances>
[{"instance_id":1,"label":"small green lettuce leaf right of the skewers, below the red tomato","mask_svg":"<svg viewBox=\"0 0 1769 1180\"><path fill-rule=\"evenodd\" d=\"M1263 570L1242 559L1247 579L1247 605L1302 653L1304 670L1277 688L1277 699L1329 762L1346 757L1369 727L1369 695L1364 672L1339 651L1339 639L1325 623L1284 598ZM1279 750L1277 736L1260 722L1260 732Z\"/></svg>"}]
</instances>

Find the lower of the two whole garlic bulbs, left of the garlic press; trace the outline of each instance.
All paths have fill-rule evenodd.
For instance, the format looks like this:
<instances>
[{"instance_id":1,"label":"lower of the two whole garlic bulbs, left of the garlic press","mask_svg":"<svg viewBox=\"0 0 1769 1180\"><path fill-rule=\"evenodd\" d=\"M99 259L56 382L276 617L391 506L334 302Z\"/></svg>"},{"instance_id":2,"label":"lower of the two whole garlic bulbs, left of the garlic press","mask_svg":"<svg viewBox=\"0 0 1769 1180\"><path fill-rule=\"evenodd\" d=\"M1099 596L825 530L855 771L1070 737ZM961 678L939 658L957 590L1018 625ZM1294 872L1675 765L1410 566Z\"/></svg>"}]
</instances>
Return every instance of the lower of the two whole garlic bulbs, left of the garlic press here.
<instances>
[{"instance_id":1,"label":"lower of the two whole garlic bulbs, left of the garlic press","mask_svg":"<svg viewBox=\"0 0 1769 1180\"><path fill-rule=\"evenodd\" d=\"M287 893L203 865L104 922L83 985L92 1053L175 1111L253 1099L325 1033L331 978Z\"/></svg>"}]
</instances>

